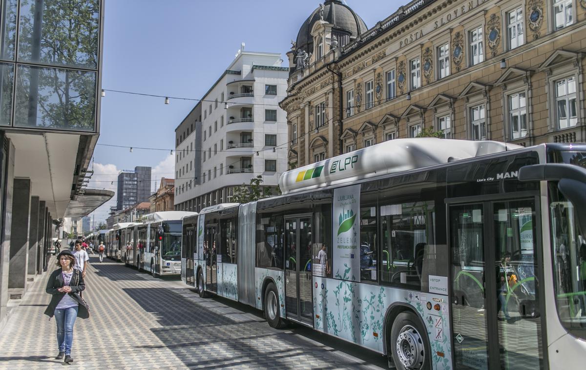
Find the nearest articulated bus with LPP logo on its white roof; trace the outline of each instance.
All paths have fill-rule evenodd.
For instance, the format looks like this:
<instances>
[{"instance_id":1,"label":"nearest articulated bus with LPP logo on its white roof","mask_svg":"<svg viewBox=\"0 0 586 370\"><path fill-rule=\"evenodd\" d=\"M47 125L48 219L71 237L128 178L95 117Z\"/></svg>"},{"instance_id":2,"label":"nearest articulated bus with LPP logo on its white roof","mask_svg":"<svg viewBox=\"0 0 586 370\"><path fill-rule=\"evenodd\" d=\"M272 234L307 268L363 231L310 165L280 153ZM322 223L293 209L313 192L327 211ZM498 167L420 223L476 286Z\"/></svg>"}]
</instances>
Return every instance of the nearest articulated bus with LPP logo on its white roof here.
<instances>
[{"instance_id":1,"label":"nearest articulated bus with LPP logo on its white roof","mask_svg":"<svg viewBox=\"0 0 586 370\"><path fill-rule=\"evenodd\" d=\"M380 143L184 218L185 281L399 369L582 368L584 167L584 144Z\"/></svg>"}]
</instances>

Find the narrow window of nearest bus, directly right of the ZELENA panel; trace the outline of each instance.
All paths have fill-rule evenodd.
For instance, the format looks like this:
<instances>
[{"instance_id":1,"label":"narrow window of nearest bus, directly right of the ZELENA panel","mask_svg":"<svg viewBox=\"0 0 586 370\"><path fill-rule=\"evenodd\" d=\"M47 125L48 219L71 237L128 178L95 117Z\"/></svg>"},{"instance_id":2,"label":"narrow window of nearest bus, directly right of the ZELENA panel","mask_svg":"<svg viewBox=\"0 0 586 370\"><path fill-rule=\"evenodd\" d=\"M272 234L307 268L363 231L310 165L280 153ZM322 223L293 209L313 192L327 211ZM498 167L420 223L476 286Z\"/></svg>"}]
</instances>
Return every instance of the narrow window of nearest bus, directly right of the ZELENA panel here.
<instances>
[{"instance_id":1,"label":"narrow window of nearest bus, directly right of the ZELENA panel","mask_svg":"<svg viewBox=\"0 0 586 370\"><path fill-rule=\"evenodd\" d=\"M360 282L377 282L376 194L360 194Z\"/></svg>"}]
</instances>

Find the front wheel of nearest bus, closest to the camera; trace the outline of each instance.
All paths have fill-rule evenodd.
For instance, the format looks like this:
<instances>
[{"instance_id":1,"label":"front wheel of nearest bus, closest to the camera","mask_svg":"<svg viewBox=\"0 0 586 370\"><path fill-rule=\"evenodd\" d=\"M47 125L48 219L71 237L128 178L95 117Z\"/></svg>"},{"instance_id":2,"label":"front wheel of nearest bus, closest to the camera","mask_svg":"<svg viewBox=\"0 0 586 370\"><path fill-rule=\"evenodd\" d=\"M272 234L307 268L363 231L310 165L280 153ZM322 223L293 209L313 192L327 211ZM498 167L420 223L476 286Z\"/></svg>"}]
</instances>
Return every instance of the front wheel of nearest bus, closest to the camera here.
<instances>
[{"instance_id":1,"label":"front wheel of nearest bus, closest to the camera","mask_svg":"<svg viewBox=\"0 0 586 370\"><path fill-rule=\"evenodd\" d=\"M411 311L401 312L393 321L389 350L397 369L431 369L427 330L419 317Z\"/></svg>"}]
</instances>

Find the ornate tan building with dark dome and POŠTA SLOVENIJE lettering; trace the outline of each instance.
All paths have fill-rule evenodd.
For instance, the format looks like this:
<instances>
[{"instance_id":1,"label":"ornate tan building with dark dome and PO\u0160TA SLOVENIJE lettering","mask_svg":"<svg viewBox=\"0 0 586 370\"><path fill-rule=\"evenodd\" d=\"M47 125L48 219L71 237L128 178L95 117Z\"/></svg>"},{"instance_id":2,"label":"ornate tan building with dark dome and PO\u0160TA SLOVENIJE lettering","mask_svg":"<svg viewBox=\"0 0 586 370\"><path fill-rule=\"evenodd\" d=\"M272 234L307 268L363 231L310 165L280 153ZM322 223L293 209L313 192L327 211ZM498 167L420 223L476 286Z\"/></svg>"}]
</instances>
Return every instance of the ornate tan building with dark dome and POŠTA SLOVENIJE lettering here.
<instances>
[{"instance_id":1,"label":"ornate tan building with dark dome and PO\u0160TA SLOVENIJE lettering","mask_svg":"<svg viewBox=\"0 0 586 370\"><path fill-rule=\"evenodd\" d=\"M289 167L425 128L586 141L585 19L586 0L418 0L365 30L326 1L288 53Z\"/></svg>"}]
</instances>

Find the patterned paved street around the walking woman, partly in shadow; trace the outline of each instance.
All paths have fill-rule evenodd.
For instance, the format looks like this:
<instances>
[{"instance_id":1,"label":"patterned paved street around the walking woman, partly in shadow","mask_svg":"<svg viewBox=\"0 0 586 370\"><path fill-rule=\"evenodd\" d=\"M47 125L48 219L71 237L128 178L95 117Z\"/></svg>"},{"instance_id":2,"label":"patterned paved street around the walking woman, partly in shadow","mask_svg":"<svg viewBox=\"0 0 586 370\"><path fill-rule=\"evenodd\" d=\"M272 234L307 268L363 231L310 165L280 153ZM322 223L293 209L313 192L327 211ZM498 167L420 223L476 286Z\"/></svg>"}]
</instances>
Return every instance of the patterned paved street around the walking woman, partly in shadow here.
<instances>
[{"instance_id":1,"label":"patterned paved street around the walking woman, partly in shadow","mask_svg":"<svg viewBox=\"0 0 586 370\"><path fill-rule=\"evenodd\" d=\"M0 368L52 369L54 319L43 315L49 273L38 279L0 333ZM257 310L201 299L180 280L154 279L91 259L84 298L91 317L74 328L80 369L382 368L380 355L305 327L275 330Z\"/></svg>"}]
</instances>

